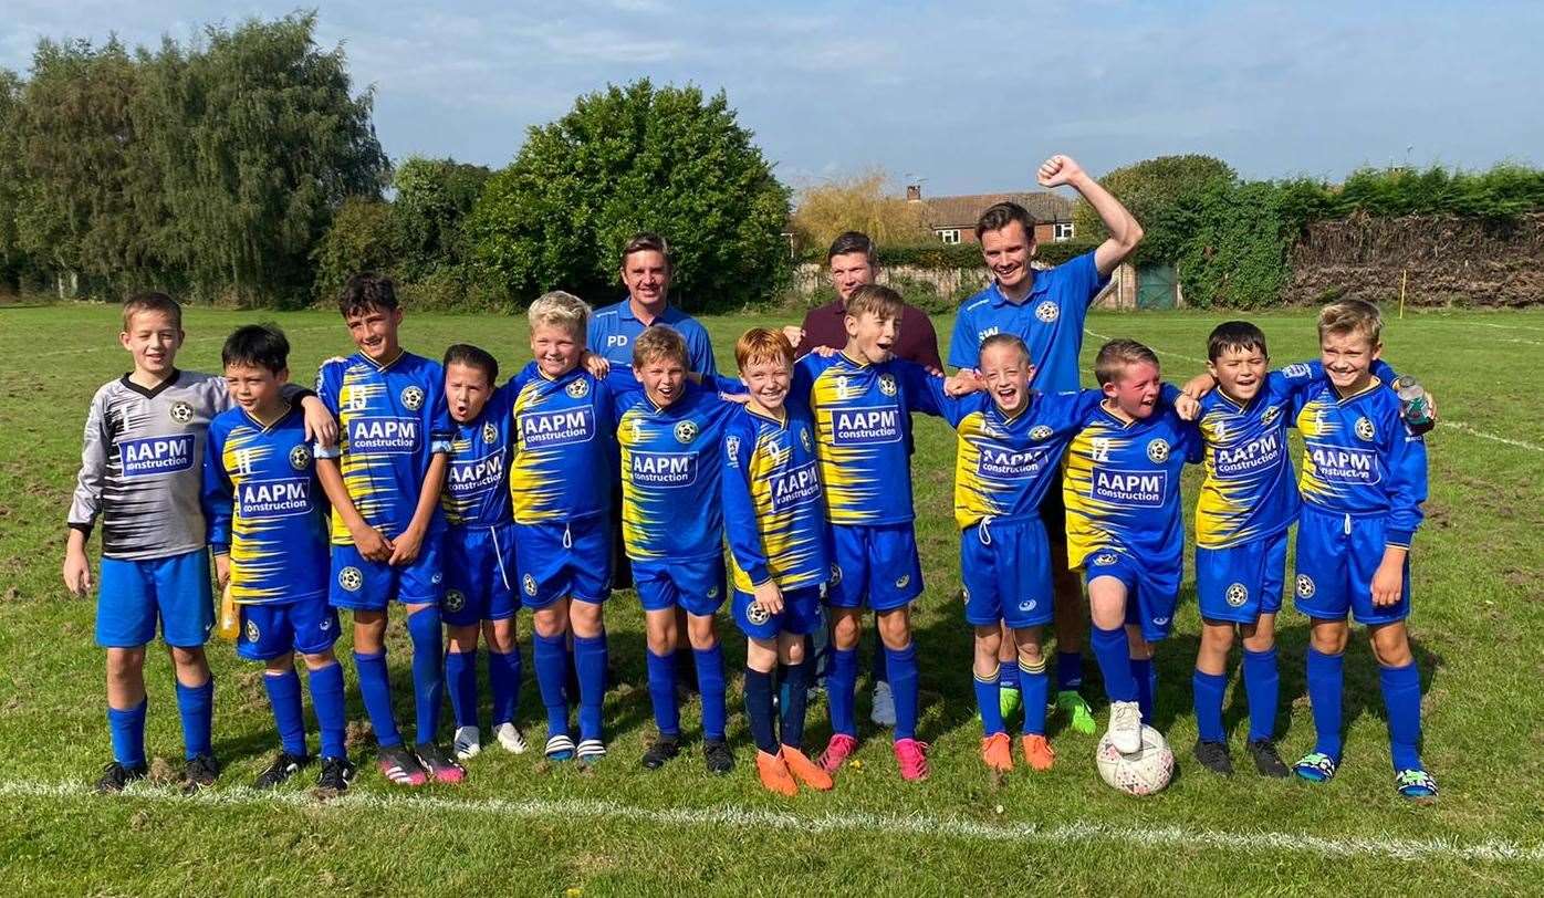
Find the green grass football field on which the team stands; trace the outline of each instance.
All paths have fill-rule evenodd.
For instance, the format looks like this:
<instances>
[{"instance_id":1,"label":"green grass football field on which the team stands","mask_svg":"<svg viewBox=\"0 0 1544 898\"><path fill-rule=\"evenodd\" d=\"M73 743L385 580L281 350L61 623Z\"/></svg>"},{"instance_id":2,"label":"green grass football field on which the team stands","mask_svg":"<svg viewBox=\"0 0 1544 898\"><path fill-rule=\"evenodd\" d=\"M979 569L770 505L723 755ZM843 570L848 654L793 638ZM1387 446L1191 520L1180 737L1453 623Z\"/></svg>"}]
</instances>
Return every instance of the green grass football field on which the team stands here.
<instances>
[{"instance_id":1,"label":"green grass football field on which the team stands","mask_svg":"<svg viewBox=\"0 0 1544 898\"><path fill-rule=\"evenodd\" d=\"M179 364L218 370L224 335L253 318L191 312ZM276 318L295 344L301 380L320 358L350 349L335 315ZM1084 361L1104 336L1135 336L1181 380L1201 369L1206 333L1218 319L1095 315ZM1311 315L1255 319L1277 361L1315 352ZM721 366L732 364L726 350L749 324L744 316L707 321ZM494 748L469 764L462 787L408 793L388 785L374 771L372 748L360 745L361 776L347 798L310 798L313 768L306 785L259 796L245 784L275 745L259 671L213 643L215 742L227 764L221 784L196 798L165 785L90 795L108 758L102 653L93 645L93 603L68 597L59 563L86 403L128 360L116 344L114 309L9 309L0 310L0 893L278 895L318 886L462 895L1407 893L1411 878L1430 893L1536 893L1544 876L1544 415L1529 400L1544 363L1541 312L1414 315L1385 333L1387 358L1425 381L1444 418L1428 440L1431 500L1413 555L1425 761L1442 785L1434 805L1393 792L1365 642L1348 653L1349 733L1332 784L1265 781L1246 770L1237 659L1226 716L1240 773L1221 779L1201 770L1189 755L1198 630L1189 583L1177 634L1158 654L1158 724L1180 759L1167 792L1144 801L1115 793L1093 770L1095 739L1059 727L1056 770L1031 776L1021 768L1005 782L990 781L977 758L970 639L954 600L953 437L922 418L914 475L928 589L916 623L920 738L933 744L933 776L923 784L903 787L888 739L868 738L860 765L841 773L834 793L795 801L764 793L738 713L738 676L730 684L736 771L710 779L692 742L679 761L645 775L638 767L652 734L642 620L633 594L619 592L607 617L625 685L607 697L611 755L594 771L548 768L539 750L514 758ZM950 333L950 321L937 326ZM493 349L510 370L528 355L523 324L513 319L409 315L405 324L406 346L425 355L463 339ZM727 622L723 630L736 670L741 642ZM409 719L409 654L397 622L392 639L398 719ZM1291 761L1312 742L1306 625L1295 613L1283 614L1280 642L1286 707L1278 734ZM352 687L352 665L346 670ZM181 733L164 654L153 654L147 677L148 747L176 767ZM1090 685L1092 696L1098 687ZM860 693L866 722L865 684ZM520 707L539 747L534 682ZM689 738L695 711L684 714ZM350 717L363 719L352 691ZM809 730L809 742L823 744L823 704L812 705Z\"/></svg>"}]
</instances>

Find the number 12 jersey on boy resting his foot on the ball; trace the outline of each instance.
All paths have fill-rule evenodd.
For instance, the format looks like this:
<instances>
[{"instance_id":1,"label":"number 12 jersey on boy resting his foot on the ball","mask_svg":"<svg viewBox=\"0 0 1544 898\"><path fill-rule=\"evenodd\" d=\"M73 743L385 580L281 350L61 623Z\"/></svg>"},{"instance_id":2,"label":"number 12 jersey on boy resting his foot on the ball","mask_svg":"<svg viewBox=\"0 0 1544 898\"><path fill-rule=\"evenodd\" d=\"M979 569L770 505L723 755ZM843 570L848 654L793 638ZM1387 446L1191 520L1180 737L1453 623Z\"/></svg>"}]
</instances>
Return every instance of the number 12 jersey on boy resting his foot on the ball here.
<instances>
[{"instance_id":1,"label":"number 12 jersey on boy resting his foot on the ball","mask_svg":"<svg viewBox=\"0 0 1544 898\"><path fill-rule=\"evenodd\" d=\"M1167 403L1132 423L1095 407L1068 444L1062 472L1068 566L1082 566L1099 549L1119 549L1138 563L1180 569L1180 475L1186 461L1200 460L1195 426Z\"/></svg>"}]
</instances>

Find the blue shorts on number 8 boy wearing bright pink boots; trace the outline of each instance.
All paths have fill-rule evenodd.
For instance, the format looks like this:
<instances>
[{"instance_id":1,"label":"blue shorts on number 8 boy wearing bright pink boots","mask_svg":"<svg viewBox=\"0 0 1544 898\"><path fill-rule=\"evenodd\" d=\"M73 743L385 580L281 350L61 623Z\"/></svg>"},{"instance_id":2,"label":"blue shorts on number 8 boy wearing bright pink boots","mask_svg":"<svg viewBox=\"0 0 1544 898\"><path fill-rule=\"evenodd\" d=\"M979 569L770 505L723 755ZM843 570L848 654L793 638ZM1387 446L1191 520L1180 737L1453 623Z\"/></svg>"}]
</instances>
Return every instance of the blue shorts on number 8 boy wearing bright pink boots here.
<instances>
[{"instance_id":1,"label":"blue shorts on number 8 boy wearing bright pink boots","mask_svg":"<svg viewBox=\"0 0 1544 898\"><path fill-rule=\"evenodd\" d=\"M826 605L892 611L922 596L917 531L899 525L831 525Z\"/></svg>"}]
</instances>

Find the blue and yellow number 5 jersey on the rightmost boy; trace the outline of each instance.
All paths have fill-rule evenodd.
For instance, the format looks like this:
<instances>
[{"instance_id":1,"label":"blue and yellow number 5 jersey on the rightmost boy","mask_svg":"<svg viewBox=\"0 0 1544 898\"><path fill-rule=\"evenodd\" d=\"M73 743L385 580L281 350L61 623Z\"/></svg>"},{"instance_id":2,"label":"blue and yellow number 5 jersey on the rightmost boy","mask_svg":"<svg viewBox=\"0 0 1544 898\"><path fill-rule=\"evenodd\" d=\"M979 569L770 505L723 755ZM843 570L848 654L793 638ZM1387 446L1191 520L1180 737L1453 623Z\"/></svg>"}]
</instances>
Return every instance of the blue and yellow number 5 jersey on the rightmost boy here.
<instances>
[{"instance_id":1,"label":"blue and yellow number 5 jersey on the rightmost boy","mask_svg":"<svg viewBox=\"0 0 1544 898\"><path fill-rule=\"evenodd\" d=\"M1427 444L1399 417L1399 397L1376 376L1340 398L1320 381L1299 393L1303 435L1299 489L1329 514L1385 515L1388 545L1408 546L1427 500Z\"/></svg>"}]
</instances>

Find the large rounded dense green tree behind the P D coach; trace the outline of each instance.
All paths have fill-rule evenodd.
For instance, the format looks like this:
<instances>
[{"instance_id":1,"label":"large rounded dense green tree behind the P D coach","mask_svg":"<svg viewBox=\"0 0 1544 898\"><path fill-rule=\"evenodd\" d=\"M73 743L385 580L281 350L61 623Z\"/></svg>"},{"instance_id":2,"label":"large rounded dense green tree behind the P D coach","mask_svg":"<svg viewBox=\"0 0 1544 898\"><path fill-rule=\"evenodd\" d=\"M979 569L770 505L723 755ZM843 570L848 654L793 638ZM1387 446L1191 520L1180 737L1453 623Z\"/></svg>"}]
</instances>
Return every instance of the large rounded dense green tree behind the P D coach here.
<instances>
[{"instance_id":1,"label":"large rounded dense green tree behind the P D coach","mask_svg":"<svg viewBox=\"0 0 1544 898\"><path fill-rule=\"evenodd\" d=\"M638 80L531 128L466 227L477 264L511 298L564 287L607 301L622 244L652 230L675 252L672 295L726 307L772 290L787 201L723 93Z\"/></svg>"}]
</instances>

